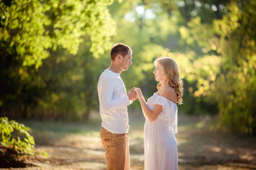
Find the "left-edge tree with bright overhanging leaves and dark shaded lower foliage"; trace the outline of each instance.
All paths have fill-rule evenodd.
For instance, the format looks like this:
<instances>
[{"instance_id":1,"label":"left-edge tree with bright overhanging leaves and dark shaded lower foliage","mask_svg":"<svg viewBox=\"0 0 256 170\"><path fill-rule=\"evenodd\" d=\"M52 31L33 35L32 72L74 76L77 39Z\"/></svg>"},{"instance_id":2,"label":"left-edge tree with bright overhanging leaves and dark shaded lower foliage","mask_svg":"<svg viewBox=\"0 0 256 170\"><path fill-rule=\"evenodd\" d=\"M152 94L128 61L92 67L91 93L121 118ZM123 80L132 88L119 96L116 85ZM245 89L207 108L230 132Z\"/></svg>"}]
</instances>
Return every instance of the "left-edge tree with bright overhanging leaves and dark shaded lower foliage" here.
<instances>
[{"instance_id":1,"label":"left-edge tree with bright overhanging leaves and dark shaded lower foliage","mask_svg":"<svg viewBox=\"0 0 256 170\"><path fill-rule=\"evenodd\" d=\"M45 80L36 75L52 51L77 54L85 35L94 57L111 47L109 0L0 0L0 113L26 118Z\"/></svg>"}]
</instances>

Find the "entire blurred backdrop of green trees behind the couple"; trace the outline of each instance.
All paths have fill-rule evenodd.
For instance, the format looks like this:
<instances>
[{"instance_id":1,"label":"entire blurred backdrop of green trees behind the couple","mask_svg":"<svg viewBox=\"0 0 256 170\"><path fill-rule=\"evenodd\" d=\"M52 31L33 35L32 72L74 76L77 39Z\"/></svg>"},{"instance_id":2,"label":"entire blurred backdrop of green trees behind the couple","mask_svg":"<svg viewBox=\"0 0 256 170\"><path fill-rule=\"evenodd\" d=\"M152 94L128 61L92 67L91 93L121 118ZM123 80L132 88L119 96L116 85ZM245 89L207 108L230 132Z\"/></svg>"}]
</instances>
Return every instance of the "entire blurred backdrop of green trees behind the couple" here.
<instances>
[{"instance_id":1,"label":"entire blurred backdrop of green trees behind the couple","mask_svg":"<svg viewBox=\"0 0 256 170\"><path fill-rule=\"evenodd\" d=\"M255 135L255 14L250 0L0 0L0 115L87 119L109 49L123 42L133 50L127 90L151 96L154 59L172 57L185 85L179 111L218 113L217 127Z\"/></svg>"}]
</instances>

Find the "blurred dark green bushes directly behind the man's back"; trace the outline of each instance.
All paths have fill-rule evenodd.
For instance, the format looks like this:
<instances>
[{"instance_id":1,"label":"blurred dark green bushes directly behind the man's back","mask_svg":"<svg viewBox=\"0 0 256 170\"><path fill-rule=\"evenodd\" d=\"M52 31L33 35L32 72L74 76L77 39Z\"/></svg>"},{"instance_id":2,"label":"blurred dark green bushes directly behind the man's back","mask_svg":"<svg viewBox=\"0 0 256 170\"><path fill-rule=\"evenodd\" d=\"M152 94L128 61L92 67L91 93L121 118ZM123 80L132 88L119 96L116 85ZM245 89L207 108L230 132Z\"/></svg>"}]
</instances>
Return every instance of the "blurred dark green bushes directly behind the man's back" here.
<instances>
[{"instance_id":1,"label":"blurred dark green bushes directly behind the man's back","mask_svg":"<svg viewBox=\"0 0 256 170\"><path fill-rule=\"evenodd\" d=\"M86 43L82 42L80 47L83 48L76 57L56 51L38 69L36 75L47 81L46 88L41 90L42 97L35 109L37 114L33 115L35 118L50 116L53 119L83 121L98 104L95 87L99 68L105 63L84 51L89 48Z\"/></svg>"}]
</instances>

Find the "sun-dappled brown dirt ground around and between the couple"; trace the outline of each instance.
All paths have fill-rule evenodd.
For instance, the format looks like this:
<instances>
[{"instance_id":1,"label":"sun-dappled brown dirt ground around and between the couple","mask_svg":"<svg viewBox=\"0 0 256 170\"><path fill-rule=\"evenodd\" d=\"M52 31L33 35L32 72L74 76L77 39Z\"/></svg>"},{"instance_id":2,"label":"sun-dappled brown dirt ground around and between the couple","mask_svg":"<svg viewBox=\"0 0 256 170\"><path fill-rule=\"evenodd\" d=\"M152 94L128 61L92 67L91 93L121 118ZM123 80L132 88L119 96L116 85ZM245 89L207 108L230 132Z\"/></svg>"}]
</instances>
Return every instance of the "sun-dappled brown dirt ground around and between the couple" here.
<instances>
[{"instance_id":1,"label":"sun-dappled brown dirt ground around and between the couple","mask_svg":"<svg viewBox=\"0 0 256 170\"><path fill-rule=\"evenodd\" d=\"M106 170L105 151L99 139L99 125L40 124L33 130L36 151L44 150L47 159L28 161L35 165L15 170ZM32 127L33 128L33 127ZM49 129L53 129L52 131ZM69 131L70 130L70 131ZM84 133L83 133L84 131ZM85 132L86 131L86 132ZM82 133L81 133L82 132ZM176 135L179 170L256 170L256 138L208 130L201 122L180 125ZM131 169L143 170L143 124L131 122L129 132Z\"/></svg>"}]
</instances>

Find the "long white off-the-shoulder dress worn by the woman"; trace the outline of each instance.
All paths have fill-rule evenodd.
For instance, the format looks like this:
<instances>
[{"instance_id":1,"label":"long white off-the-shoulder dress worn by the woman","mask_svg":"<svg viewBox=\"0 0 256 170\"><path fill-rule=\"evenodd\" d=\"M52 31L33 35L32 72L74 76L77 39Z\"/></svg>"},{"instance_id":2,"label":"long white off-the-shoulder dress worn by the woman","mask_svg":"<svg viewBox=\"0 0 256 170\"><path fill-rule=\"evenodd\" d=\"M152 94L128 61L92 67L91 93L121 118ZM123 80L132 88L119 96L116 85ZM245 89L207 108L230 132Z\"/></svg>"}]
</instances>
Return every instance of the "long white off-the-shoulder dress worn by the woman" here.
<instances>
[{"instance_id":1,"label":"long white off-the-shoulder dress worn by the woman","mask_svg":"<svg viewBox=\"0 0 256 170\"><path fill-rule=\"evenodd\" d=\"M147 105L162 105L159 116L150 122L146 117L144 125L145 170L178 170L177 105L163 96L155 94L148 98ZM145 115L145 114L144 114Z\"/></svg>"}]
</instances>

